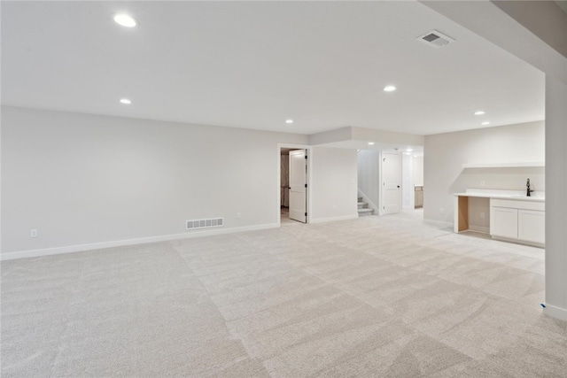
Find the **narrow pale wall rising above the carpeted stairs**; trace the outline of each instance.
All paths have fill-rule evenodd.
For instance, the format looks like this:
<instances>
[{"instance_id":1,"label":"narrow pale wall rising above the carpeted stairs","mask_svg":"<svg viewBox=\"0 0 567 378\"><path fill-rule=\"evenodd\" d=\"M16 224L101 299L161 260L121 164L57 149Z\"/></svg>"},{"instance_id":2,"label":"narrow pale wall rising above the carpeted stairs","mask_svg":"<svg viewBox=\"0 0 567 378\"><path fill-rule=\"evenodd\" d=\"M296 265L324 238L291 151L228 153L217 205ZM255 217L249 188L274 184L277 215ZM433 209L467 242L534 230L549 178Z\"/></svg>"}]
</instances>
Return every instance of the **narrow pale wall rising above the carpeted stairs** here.
<instances>
[{"instance_id":1,"label":"narrow pale wall rising above the carpeted stairs","mask_svg":"<svg viewBox=\"0 0 567 378\"><path fill-rule=\"evenodd\" d=\"M358 151L358 189L370 201L375 213L380 209L380 151Z\"/></svg>"}]
</instances>

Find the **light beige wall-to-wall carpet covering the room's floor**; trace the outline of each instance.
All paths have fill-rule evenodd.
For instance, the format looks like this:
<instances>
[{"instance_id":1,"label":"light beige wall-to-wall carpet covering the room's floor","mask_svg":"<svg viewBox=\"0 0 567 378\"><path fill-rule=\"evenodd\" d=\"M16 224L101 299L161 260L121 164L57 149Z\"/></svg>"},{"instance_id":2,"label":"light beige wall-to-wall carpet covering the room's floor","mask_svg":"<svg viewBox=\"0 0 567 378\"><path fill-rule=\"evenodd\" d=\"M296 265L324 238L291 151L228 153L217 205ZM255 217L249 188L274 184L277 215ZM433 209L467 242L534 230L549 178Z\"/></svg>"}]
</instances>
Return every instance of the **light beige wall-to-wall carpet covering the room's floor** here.
<instances>
[{"instance_id":1,"label":"light beige wall-to-wall carpet covering the room's floor","mask_svg":"<svg viewBox=\"0 0 567 378\"><path fill-rule=\"evenodd\" d=\"M544 251L420 212L2 263L2 375L567 376Z\"/></svg>"}]
</instances>

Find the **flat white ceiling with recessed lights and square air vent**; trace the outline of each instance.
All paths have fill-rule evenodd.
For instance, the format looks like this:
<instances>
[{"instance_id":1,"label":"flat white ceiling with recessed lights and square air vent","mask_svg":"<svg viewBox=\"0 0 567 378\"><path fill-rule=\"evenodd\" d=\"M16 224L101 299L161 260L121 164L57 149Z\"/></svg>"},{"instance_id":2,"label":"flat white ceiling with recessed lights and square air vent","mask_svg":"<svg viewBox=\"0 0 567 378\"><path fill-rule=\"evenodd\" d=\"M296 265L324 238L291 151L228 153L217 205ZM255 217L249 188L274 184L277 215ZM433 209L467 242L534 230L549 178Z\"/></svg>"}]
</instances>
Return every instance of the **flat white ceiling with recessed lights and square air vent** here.
<instances>
[{"instance_id":1,"label":"flat white ceiling with recessed lights and square air vent","mask_svg":"<svg viewBox=\"0 0 567 378\"><path fill-rule=\"evenodd\" d=\"M116 12L138 26L120 27ZM416 41L431 29L456 41ZM414 1L2 2L2 103L429 135L543 120L544 75Z\"/></svg>"}]
</instances>

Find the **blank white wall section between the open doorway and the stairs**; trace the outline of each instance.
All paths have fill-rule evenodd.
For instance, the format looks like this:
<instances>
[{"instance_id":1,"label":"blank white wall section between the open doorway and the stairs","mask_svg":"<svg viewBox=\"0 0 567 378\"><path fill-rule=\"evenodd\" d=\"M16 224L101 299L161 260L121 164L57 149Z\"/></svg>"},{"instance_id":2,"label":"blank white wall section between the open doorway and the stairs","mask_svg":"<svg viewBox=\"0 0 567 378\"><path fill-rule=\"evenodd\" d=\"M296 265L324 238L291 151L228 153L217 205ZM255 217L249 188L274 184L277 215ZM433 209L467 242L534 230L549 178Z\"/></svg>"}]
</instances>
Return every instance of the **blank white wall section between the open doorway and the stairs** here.
<instances>
[{"instance_id":1,"label":"blank white wall section between the open doorway and the stairs","mask_svg":"<svg viewBox=\"0 0 567 378\"><path fill-rule=\"evenodd\" d=\"M311 158L309 221L357 218L356 150L314 147Z\"/></svg>"}]
</instances>

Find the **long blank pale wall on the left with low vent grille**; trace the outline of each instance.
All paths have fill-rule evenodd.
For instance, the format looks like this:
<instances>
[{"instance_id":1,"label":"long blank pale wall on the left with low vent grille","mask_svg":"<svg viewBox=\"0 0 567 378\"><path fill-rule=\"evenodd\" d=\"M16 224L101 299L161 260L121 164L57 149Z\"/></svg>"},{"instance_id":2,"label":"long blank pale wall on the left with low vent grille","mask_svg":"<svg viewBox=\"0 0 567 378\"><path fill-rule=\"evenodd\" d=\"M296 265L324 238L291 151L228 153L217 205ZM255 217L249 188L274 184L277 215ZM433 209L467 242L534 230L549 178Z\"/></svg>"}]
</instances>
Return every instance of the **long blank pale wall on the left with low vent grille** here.
<instances>
[{"instance_id":1,"label":"long blank pale wall on the left with low vent grille","mask_svg":"<svg viewBox=\"0 0 567 378\"><path fill-rule=\"evenodd\" d=\"M277 143L307 135L2 107L3 256L183 235L202 218L276 226Z\"/></svg>"}]
</instances>

